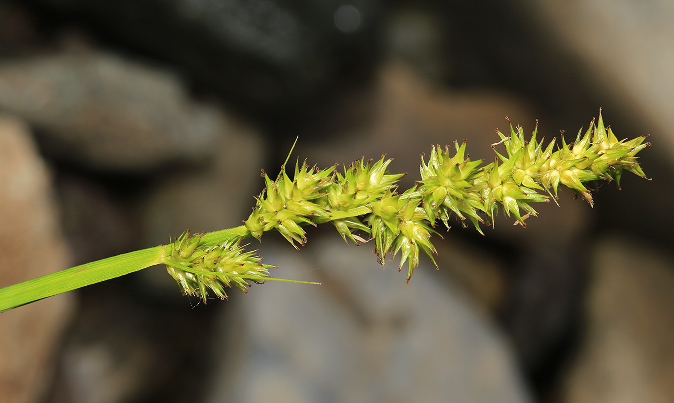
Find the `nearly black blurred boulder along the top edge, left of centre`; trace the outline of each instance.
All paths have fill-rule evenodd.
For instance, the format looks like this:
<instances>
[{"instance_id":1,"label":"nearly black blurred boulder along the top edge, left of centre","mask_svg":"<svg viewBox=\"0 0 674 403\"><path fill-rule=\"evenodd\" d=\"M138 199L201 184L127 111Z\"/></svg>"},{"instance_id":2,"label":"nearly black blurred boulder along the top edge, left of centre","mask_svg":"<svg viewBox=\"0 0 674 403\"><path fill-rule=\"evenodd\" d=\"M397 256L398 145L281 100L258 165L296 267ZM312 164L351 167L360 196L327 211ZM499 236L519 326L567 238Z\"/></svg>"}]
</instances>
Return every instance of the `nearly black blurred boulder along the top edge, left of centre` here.
<instances>
[{"instance_id":1,"label":"nearly black blurred boulder along the top edge, left of centre","mask_svg":"<svg viewBox=\"0 0 674 403\"><path fill-rule=\"evenodd\" d=\"M197 87L261 119L303 114L319 94L368 75L378 0L30 0L65 20L185 71Z\"/></svg>"}]
</instances>

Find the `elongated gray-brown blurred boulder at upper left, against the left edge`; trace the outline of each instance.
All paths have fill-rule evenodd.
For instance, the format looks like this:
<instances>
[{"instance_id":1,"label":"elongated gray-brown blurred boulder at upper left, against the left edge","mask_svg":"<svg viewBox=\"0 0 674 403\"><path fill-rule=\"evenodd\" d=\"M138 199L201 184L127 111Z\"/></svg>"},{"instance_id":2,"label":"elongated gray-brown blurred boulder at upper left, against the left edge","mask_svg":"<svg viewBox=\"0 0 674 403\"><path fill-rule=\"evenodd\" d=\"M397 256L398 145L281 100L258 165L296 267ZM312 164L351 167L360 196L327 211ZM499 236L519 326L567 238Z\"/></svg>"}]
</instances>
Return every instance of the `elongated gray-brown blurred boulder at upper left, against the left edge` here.
<instances>
[{"instance_id":1,"label":"elongated gray-brown blurred boulder at upper left, against the left edge","mask_svg":"<svg viewBox=\"0 0 674 403\"><path fill-rule=\"evenodd\" d=\"M36 126L49 155L107 171L198 161L224 131L175 74L86 46L0 61L0 108Z\"/></svg>"}]
</instances>

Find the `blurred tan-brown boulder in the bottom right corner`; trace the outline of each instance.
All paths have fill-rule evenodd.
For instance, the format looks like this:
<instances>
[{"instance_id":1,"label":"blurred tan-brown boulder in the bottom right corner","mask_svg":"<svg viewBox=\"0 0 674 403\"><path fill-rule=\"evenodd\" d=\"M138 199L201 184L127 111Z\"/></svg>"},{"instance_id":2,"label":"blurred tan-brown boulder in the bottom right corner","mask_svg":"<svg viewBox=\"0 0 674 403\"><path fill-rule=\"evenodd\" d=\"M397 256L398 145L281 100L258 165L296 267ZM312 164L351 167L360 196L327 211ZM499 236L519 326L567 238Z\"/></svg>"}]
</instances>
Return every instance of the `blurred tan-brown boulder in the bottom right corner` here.
<instances>
[{"instance_id":1,"label":"blurred tan-brown boulder in the bottom right corner","mask_svg":"<svg viewBox=\"0 0 674 403\"><path fill-rule=\"evenodd\" d=\"M633 237L594 247L586 329L563 402L671 402L674 266Z\"/></svg>"}]
</instances>

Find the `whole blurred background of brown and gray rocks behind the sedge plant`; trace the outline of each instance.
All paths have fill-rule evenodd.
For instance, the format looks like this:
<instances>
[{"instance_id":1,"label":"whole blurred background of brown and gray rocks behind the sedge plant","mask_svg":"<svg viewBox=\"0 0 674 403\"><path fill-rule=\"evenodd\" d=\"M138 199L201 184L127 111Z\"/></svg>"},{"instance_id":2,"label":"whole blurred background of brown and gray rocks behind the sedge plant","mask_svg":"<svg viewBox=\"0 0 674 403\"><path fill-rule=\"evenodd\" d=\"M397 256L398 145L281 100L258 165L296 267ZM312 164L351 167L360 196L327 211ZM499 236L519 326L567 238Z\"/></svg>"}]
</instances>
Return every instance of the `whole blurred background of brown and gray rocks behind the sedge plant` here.
<instances>
[{"instance_id":1,"label":"whole blurred background of brown and gray rocks behind the sedge plant","mask_svg":"<svg viewBox=\"0 0 674 403\"><path fill-rule=\"evenodd\" d=\"M0 314L2 402L669 402L674 3L0 0L0 286L239 225L295 155L433 143L603 107L652 181L454 225L408 287L331 228L208 305L154 267ZM444 235L444 234L443 234ZM28 246L30 245L30 249ZM258 248L257 244L251 245Z\"/></svg>"}]
</instances>

